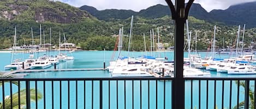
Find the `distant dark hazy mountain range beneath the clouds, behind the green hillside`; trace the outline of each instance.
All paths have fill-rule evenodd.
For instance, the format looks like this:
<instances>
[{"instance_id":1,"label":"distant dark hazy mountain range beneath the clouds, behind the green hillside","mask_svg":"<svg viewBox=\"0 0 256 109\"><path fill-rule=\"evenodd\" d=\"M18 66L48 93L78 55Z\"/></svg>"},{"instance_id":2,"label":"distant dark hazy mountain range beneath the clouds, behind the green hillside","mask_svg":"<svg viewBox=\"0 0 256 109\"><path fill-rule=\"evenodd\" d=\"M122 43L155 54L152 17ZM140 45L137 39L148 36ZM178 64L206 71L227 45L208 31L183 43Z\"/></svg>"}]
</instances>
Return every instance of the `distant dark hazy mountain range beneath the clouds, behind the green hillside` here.
<instances>
[{"instance_id":1,"label":"distant dark hazy mountain range beneath the clouds, behind the green hillside","mask_svg":"<svg viewBox=\"0 0 256 109\"><path fill-rule=\"evenodd\" d=\"M189 11L189 16L193 16L200 20L208 22L222 22L227 25L247 24L247 27L256 27L256 16L253 14L256 11L256 2L249 2L243 4L232 5L226 10L212 10L207 12L200 4L193 3ZM92 8L92 7L91 7ZM144 18L160 18L170 15L170 9L166 5L157 4L139 12L129 12L128 10L90 10L88 6L83 6L81 10L86 10L99 20L109 21L110 19L126 19L131 15L140 16ZM118 14L123 17L118 16Z\"/></svg>"}]
</instances>

